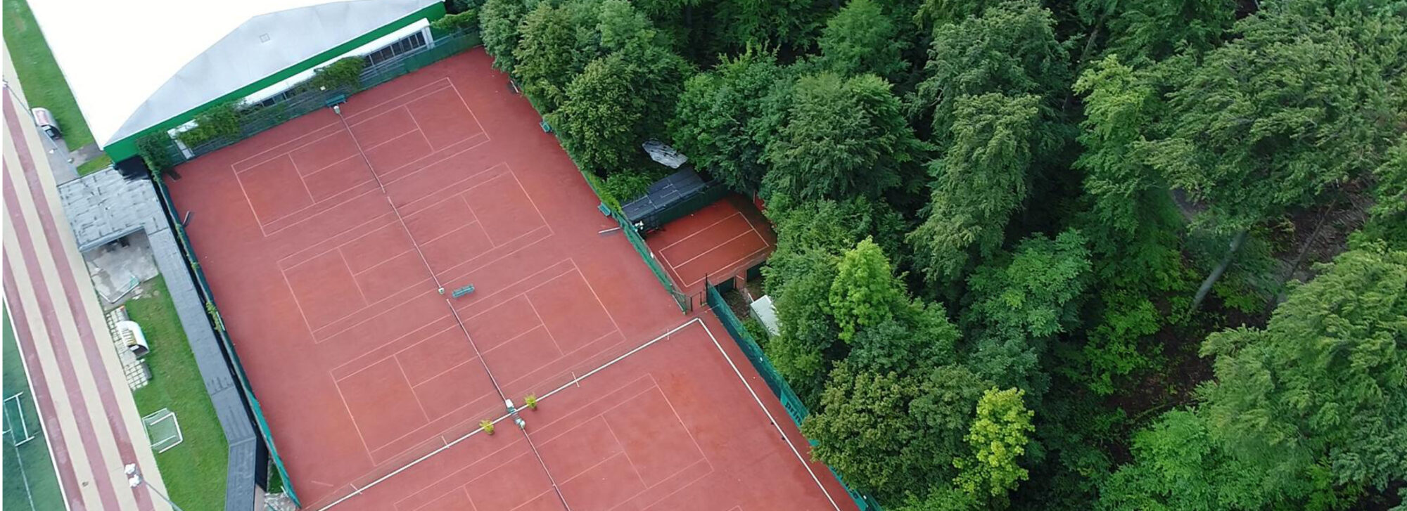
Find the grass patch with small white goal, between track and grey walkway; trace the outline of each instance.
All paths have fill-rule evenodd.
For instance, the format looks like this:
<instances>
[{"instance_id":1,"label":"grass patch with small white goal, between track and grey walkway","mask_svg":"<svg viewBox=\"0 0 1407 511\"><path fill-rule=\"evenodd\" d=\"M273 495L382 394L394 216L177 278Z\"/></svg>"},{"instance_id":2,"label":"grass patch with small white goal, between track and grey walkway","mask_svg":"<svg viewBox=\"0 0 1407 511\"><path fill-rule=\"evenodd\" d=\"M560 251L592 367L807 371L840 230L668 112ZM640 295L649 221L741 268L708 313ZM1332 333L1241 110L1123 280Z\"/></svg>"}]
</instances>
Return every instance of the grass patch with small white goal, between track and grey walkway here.
<instances>
[{"instance_id":1,"label":"grass patch with small white goal, between track and grey walkway","mask_svg":"<svg viewBox=\"0 0 1407 511\"><path fill-rule=\"evenodd\" d=\"M146 355L152 382L136 389L132 397L142 416L160 409L174 411L184 437L180 445L156 455L156 466L172 500L182 508L222 510L229 456L225 432L210 404L165 277L142 284L142 298L127 302L127 314L142 326L152 347Z\"/></svg>"}]
</instances>

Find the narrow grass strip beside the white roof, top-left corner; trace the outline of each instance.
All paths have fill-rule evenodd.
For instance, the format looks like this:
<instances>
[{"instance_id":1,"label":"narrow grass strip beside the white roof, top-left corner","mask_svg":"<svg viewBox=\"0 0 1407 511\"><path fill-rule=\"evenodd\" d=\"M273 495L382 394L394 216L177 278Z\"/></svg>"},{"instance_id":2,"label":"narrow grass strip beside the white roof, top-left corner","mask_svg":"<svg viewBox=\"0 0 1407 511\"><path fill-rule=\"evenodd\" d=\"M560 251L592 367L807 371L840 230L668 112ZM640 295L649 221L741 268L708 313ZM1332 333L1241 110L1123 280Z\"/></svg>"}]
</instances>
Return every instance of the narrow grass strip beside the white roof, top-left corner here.
<instances>
[{"instance_id":1,"label":"narrow grass strip beside the white roof, top-left corner","mask_svg":"<svg viewBox=\"0 0 1407 511\"><path fill-rule=\"evenodd\" d=\"M34 13L25 0L4 0L4 44L10 49L10 58L14 59L14 70L20 74L30 107L44 107L53 112L59 128L63 129L63 142L69 150L91 143L93 132L83 121L83 112L79 111L77 101L73 101L73 91L63 80L59 65L53 62L49 44L44 41L39 24L34 21ZM101 170L111 163L111 159L100 157L79 166L79 174Z\"/></svg>"}]
</instances>

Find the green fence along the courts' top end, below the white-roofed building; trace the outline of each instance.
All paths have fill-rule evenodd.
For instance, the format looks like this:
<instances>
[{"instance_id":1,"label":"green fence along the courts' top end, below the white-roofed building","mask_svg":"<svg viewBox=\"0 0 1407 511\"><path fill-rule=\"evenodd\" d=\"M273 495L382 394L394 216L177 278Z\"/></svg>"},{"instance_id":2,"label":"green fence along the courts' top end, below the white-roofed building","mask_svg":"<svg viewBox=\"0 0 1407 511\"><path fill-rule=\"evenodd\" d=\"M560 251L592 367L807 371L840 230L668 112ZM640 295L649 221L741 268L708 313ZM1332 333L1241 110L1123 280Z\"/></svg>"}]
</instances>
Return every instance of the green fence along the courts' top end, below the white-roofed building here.
<instances>
[{"instance_id":1,"label":"green fence along the courts' top end, below the white-roofed building","mask_svg":"<svg viewBox=\"0 0 1407 511\"><path fill-rule=\"evenodd\" d=\"M160 138L162 140L159 142L165 147L167 161L179 164L201 154L208 154L228 147L239 140L288 122L293 118L310 114L318 108L326 108L336 98L345 98L391 81L397 77L409 74L421 67L478 46L478 44L480 38L476 32L442 36L433 39L431 45L408 51L397 55L395 58L363 69L356 87L333 87L328 90L304 88L297 93L288 93L284 100L267 107L245 107L239 111L239 135L217 136L201 142L197 146L186 147L187 152L182 152L180 146L176 145L176 140L170 138Z\"/></svg>"}]
</instances>

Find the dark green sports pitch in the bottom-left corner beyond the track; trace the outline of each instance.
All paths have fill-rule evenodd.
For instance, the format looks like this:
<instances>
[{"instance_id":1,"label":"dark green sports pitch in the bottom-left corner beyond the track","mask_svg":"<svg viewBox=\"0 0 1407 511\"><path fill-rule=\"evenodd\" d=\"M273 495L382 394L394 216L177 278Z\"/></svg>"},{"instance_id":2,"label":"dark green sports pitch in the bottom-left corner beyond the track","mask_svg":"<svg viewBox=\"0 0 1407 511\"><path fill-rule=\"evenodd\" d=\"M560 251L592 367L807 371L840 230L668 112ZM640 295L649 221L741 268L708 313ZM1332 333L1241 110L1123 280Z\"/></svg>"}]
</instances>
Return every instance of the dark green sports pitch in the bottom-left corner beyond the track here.
<instances>
[{"instance_id":1,"label":"dark green sports pitch in the bottom-left corner beyond the track","mask_svg":"<svg viewBox=\"0 0 1407 511\"><path fill-rule=\"evenodd\" d=\"M4 403L4 428L15 428L20 421L30 430L34 439L24 445L14 445L23 439L23 432L7 434L3 446L4 462L4 496L0 498L0 508L4 511L20 510L62 510L63 493L59 490L59 477L53 472L53 460L49 458L48 441L39 425L39 414L34 409L34 396L30 394L30 376L24 372L24 362L20 359L20 345L15 343L14 330L10 327L10 312L4 313L4 396L24 393L18 401ZM23 416L23 418L21 418Z\"/></svg>"}]
</instances>

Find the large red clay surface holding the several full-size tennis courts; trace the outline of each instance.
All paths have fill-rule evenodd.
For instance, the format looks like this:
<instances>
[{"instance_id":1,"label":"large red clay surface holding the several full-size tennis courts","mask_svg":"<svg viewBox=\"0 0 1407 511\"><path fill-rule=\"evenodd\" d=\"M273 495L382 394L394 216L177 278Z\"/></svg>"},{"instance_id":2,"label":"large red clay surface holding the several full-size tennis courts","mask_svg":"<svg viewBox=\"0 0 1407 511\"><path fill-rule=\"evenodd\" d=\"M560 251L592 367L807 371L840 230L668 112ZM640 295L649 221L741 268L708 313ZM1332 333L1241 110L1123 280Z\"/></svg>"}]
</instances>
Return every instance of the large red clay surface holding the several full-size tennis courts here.
<instances>
[{"instance_id":1,"label":"large red clay surface holding the several full-size tennis courts","mask_svg":"<svg viewBox=\"0 0 1407 511\"><path fill-rule=\"evenodd\" d=\"M166 180L305 510L854 508L481 49L340 112Z\"/></svg>"}]
</instances>

